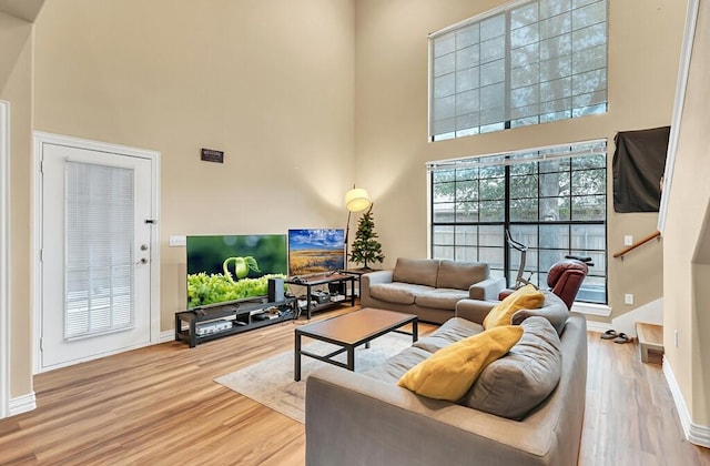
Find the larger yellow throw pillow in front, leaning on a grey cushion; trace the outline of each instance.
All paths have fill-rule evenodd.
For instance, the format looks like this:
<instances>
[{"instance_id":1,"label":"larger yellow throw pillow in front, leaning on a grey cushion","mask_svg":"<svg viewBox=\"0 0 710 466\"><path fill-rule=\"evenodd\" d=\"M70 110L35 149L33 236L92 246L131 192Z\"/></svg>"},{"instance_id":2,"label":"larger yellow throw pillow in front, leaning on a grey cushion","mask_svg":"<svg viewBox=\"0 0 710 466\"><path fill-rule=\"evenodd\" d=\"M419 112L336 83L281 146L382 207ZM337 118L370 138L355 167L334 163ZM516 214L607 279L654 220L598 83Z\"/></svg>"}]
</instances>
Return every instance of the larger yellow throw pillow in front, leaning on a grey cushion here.
<instances>
[{"instance_id":1,"label":"larger yellow throw pillow in front, leaning on a grey cushion","mask_svg":"<svg viewBox=\"0 0 710 466\"><path fill-rule=\"evenodd\" d=\"M399 378L397 385L423 396L456 402L484 368L510 351L523 336L519 325L499 326L453 343Z\"/></svg>"}]
</instances>

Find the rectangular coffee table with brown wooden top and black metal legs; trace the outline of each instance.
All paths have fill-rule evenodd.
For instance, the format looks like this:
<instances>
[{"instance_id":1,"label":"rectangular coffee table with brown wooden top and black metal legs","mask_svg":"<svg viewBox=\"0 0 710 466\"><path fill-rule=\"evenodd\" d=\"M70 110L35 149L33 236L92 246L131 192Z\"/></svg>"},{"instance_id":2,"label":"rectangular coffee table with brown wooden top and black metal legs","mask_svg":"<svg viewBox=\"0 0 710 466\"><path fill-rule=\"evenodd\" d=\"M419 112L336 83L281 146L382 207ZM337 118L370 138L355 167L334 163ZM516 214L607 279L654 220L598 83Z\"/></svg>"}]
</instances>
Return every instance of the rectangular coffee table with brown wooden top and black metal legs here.
<instances>
[{"instance_id":1,"label":"rectangular coffee table with brown wooden top and black metal legs","mask_svg":"<svg viewBox=\"0 0 710 466\"><path fill-rule=\"evenodd\" d=\"M412 332L404 332L399 327L412 324ZM394 311L376 310L365 307L348 314L326 318L295 330L294 348L294 381L301 381L301 356L313 357L328 364L333 364L346 369L355 369L355 348L365 345L369 347L369 342L389 332L412 335L412 342L418 338L418 321L414 314L405 314ZM326 355L318 355L301 348L301 338L320 340L339 346L338 350ZM335 361L334 357L347 352L347 363Z\"/></svg>"}]
</instances>

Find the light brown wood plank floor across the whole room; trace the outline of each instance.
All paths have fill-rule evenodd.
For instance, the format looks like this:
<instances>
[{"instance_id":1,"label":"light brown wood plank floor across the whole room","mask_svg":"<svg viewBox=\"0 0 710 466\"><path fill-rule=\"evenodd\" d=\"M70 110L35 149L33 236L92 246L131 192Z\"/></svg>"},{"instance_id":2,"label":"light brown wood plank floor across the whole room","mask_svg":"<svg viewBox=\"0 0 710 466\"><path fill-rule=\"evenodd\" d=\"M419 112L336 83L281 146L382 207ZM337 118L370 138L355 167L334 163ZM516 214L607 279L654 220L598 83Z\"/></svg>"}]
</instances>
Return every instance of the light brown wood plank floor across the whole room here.
<instances>
[{"instance_id":1,"label":"light brown wood plank floor across the whole room","mask_svg":"<svg viewBox=\"0 0 710 466\"><path fill-rule=\"evenodd\" d=\"M0 421L0 464L302 465L303 425L213 382L292 350L294 325L40 374L38 408ZM660 366L642 364L633 344L588 342L580 464L710 465L710 450L683 439Z\"/></svg>"}]
</instances>

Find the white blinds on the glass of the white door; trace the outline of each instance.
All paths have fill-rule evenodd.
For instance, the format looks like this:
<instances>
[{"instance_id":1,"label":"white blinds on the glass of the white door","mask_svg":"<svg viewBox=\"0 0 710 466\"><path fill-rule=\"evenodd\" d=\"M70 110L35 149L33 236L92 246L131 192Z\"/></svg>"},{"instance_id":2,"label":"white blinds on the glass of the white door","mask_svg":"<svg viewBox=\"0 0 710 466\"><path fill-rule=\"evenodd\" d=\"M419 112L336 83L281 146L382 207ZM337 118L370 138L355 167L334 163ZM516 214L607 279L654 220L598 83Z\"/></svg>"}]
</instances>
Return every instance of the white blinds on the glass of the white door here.
<instances>
[{"instance_id":1,"label":"white blinds on the glass of the white door","mask_svg":"<svg viewBox=\"0 0 710 466\"><path fill-rule=\"evenodd\" d=\"M133 170L65 164L64 338L131 328Z\"/></svg>"}]
</instances>

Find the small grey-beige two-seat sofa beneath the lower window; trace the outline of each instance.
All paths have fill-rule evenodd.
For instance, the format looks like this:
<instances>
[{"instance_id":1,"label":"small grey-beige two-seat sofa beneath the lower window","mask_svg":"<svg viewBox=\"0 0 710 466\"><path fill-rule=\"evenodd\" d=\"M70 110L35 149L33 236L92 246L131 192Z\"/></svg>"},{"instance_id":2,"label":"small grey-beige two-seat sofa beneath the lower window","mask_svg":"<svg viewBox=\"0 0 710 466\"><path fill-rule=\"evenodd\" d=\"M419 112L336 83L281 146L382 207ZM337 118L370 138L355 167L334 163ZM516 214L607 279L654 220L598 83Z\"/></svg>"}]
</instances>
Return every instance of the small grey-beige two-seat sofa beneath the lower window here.
<instances>
[{"instance_id":1,"label":"small grey-beige two-seat sofa beneath the lower window","mask_svg":"<svg viewBox=\"0 0 710 466\"><path fill-rule=\"evenodd\" d=\"M361 304L443 324L460 300L497 300L505 285L505 278L490 277L488 264L399 257L394 270L361 277Z\"/></svg>"}]
</instances>

